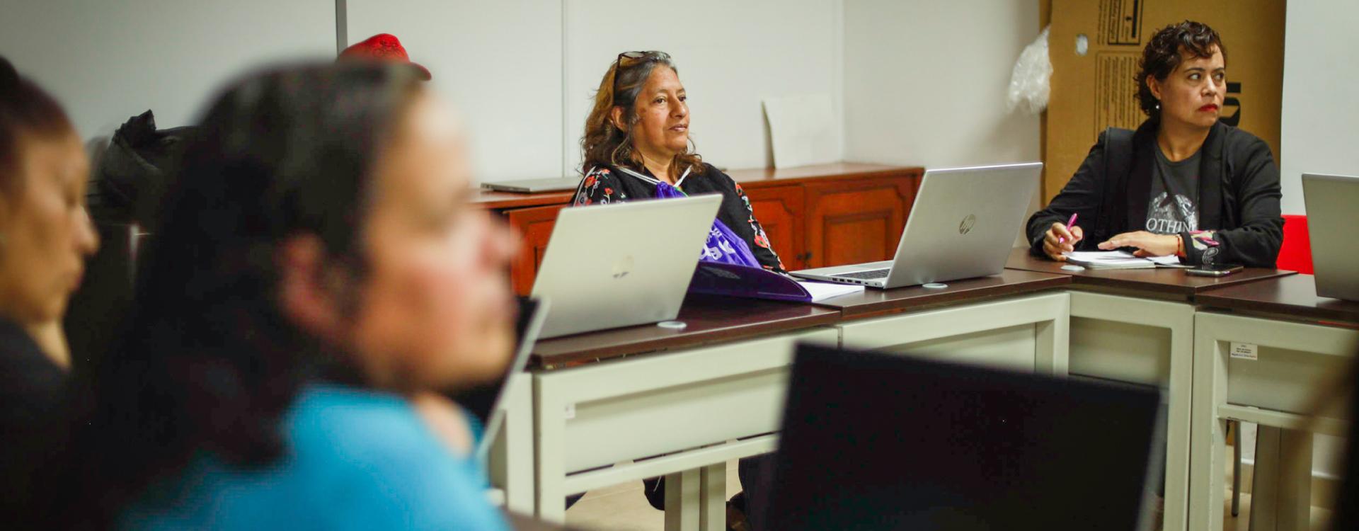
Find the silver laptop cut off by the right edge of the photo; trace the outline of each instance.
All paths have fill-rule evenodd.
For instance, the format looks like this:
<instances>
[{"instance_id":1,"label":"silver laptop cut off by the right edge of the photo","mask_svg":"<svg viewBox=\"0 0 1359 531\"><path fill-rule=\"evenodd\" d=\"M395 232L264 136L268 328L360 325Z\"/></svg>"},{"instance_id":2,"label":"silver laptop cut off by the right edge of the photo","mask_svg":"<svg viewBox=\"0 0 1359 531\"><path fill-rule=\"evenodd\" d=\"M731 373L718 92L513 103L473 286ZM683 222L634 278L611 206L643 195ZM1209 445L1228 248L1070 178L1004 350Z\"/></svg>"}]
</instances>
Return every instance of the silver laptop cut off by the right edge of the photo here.
<instances>
[{"instance_id":1,"label":"silver laptop cut off by the right edge of the photo","mask_svg":"<svg viewBox=\"0 0 1359 531\"><path fill-rule=\"evenodd\" d=\"M1359 177L1302 174L1317 295L1359 300Z\"/></svg>"}]
</instances>

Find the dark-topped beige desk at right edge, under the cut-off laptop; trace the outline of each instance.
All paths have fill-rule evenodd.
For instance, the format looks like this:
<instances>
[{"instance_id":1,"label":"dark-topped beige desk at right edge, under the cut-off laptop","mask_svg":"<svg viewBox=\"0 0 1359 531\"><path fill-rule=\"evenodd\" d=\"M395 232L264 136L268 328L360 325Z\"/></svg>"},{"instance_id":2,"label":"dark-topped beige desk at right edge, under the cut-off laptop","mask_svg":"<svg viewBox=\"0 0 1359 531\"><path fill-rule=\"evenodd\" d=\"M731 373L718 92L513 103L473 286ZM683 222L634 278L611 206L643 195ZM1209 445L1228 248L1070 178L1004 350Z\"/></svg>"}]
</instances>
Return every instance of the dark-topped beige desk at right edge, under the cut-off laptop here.
<instances>
[{"instance_id":1,"label":"dark-topped beige desk at right edge, under the cut-off laptop","mask_svg":"<svg viewBox=\"0 0 1359 531\"><path fill-rule=\"evenodd\" d=\"M1313 435L1348 436L1351 421L1343 411L1316 411L1313 401L1337 375L1351 373L1359 303L1318 297L1310 274L1223 288L1197 300L1205 308L1195 315L1190 526L1222 527L1224 432L1235 420L1260 426L1252 527L1306 530ZM1234 356L1234 346L1242 354ZM1283 459L1290 455L1299 459Z\"/></svg>"}]
</instances>

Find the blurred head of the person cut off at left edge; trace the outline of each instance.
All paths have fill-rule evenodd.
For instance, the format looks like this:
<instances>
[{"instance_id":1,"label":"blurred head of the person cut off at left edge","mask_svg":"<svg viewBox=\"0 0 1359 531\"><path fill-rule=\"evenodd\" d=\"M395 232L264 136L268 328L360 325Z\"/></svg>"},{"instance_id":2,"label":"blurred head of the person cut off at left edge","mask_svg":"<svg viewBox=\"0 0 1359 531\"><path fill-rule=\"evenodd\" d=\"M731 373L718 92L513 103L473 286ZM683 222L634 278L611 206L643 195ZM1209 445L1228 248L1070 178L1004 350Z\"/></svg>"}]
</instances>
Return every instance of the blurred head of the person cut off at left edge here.
<instances>
[{"instance_id":1,"label":"blurred head of the person cut off at left edge","mask_svg":"<svg viewBox=\"0 0 1359 531\"><path fill-rule=\"evenodd\" d=\"M99 244L88 178L65 111L0 57L0 316L31 327L65 312Z\"/></svg>"}]
</instances>

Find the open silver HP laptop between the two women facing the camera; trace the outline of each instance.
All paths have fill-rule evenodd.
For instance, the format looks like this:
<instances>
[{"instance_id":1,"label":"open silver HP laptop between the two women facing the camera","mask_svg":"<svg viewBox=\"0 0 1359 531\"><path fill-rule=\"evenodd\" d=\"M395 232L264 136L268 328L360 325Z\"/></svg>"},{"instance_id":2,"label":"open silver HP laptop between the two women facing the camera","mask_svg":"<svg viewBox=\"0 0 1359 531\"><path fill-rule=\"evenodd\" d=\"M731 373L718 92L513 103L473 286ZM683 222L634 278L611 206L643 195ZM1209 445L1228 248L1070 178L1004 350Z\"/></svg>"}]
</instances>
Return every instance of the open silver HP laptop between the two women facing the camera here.
<instances>
[{"instance_id":1,"label":"open silver HP laptop between the two women facing the camera","mask_svg":"<svg viewBox=\"0 0 1359 531\"><path fill-rule=\"evenodd\" d=\"M1000 273L1038 189L1042 163L928 170L890 261L792 276L900 288Z\"/></svg>"}]
</instances>

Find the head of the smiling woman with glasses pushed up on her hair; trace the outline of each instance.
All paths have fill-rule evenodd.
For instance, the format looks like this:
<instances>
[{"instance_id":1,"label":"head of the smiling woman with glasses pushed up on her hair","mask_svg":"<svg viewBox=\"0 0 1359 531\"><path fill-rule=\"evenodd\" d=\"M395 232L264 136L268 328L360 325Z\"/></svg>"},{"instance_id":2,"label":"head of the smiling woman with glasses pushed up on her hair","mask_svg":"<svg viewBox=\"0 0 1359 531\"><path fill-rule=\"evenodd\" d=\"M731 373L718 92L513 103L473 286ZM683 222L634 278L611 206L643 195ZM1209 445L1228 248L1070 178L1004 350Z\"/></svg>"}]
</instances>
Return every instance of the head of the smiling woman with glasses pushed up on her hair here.
<instances>
[{"instance_id":1,"label":"head of the smiling woman with glasses pushed up on her hair","mask_svg":"<svg viewBox=\"0 0 1359 531\"><path fill-rule=\"evenodd\" d=\"M689 95L665 52L618 54L595 91L594 109L580 139L584 166L669 163L671 172L700 170L690 151ZM660 175L656 175L660 177Z\"/></svg>"}]
</instances>

